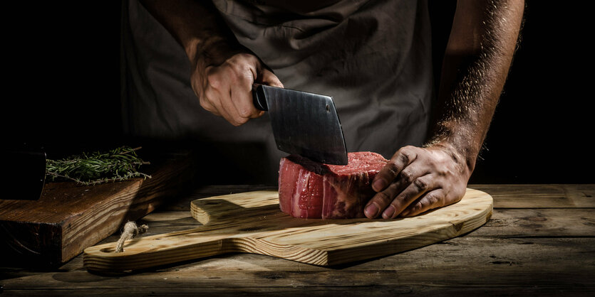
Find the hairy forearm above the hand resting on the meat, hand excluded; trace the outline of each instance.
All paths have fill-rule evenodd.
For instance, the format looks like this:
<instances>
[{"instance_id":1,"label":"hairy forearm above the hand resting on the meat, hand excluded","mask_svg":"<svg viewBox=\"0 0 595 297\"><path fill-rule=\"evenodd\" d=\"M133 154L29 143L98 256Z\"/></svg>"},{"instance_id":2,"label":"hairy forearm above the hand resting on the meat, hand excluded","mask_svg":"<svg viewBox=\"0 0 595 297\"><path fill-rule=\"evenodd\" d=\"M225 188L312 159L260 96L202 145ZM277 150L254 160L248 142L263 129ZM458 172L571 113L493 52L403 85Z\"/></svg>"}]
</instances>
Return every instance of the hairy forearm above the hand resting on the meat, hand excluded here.
<instances>
[{"instance_id":1,"label":"hairy forearm above the hand resting on the meat, hand excluded","mask_svg":"<svg viewBox=\"0 0 595 297\"><path fill-rule=\"evenodd\" d=\"M522 21L522 0L460 0L445 51L435 131L468 174L504 87Z\"/></svg>"}]
</instances>

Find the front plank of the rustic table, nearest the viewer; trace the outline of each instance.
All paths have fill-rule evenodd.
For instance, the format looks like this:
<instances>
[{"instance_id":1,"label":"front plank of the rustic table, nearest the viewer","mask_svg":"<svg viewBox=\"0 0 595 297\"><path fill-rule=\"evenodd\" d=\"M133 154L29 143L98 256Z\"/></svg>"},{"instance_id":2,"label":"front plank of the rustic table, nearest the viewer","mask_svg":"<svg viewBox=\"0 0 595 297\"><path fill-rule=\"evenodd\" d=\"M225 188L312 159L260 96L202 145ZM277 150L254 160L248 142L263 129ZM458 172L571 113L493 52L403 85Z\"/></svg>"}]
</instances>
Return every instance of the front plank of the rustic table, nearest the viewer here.
<instances>
[{"instance_id":1,"label":"front plank of the rustic table, nearest the viewer","mask_svg":"<svg viewBox=\"0 0 595 297\"><path fill-rule=\"evenodd\" d=\"M458 290L526 292L593 290L594 238L486 239L459 237L410 252L360 264L328 269L253 254L234 254L175 266L162 266L138 274L108 276L83 269L50 271L3 281L7 293L53 292L89 295L97 288L119 288L130 293L252 293L287 292L292 288L343 288L365 292L388 288L409 293ZM564 255L562 257L561 255ZM583 261L568 261L584 257ZM358 289L359 288L359 289ZM407 291L409 288L410 291ZM475 288L475 289L471 289ZM214 290L217 289L217 290ZM303 291L302 291L303 292Z\"/></svg>"}]
</instances>

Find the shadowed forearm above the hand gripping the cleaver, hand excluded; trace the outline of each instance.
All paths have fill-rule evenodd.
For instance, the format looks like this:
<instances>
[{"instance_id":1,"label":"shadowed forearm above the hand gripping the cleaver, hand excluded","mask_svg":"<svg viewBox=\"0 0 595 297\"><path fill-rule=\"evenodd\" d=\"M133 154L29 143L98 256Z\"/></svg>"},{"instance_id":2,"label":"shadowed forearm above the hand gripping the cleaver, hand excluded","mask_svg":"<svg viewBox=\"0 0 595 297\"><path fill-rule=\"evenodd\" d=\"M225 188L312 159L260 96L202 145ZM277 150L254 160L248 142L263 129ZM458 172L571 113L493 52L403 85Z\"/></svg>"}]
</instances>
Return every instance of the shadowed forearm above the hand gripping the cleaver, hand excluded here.
<instances>
[{"instance_id":1,"label":"shadowed forearm above the hand gripping the cleaver, hand excluded","mask_svg":"<svg viewBox=\"0 0 595 297\"><path fill-rule=\"evenodd\" d=\"M182 45L192 65L219 65L243 50L210 1L141 3Z\"/></svg>"}]
</instances>

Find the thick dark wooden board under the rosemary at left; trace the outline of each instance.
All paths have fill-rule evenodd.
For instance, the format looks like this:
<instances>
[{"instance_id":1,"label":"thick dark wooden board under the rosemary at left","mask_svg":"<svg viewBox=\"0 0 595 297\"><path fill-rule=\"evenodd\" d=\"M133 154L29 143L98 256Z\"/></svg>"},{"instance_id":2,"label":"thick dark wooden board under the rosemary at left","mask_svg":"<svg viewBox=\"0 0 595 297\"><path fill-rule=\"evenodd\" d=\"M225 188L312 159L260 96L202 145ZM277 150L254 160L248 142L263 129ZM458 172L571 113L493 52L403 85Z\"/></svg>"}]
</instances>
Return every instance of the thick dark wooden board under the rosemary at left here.
<instances>
[{"instance_id":1,"label":"thick dark wooden board under the rosemary at left","mask_svg":"<svg viewBox=\"0 0 595 297\"><path fill-rule=\"evenodd\" d=\"M39 200L0 199L0 251L11 265L55 266L177 195L190 154L167 156L152 178L83 186L48 183ZM3 196L4 198L10 198Z\"/></svg>"}]
</instances>

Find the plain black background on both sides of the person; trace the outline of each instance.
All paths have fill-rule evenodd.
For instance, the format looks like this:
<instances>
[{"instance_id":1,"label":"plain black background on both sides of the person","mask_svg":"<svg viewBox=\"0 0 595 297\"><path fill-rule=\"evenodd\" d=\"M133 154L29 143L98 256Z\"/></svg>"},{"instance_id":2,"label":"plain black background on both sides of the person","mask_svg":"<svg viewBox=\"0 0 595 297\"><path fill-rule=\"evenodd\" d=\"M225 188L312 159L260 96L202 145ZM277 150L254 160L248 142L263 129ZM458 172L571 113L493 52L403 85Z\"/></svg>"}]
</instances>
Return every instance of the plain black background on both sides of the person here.
<instances>
[{"instance_id":1,"label":"plain black background on both sides of the person","mask_svg":"<svg viewBox=\"0 0 595 297\"><path fill-rule=\"evenodd\" d=\"M437 46L453 3L430 1ZM5 10L5 146L26 141L58 158L130 144L120 134L120 5ZM470 183L595 182L590 20L585 8L527 1L522 42Z\"/></svg>"}]
</instances>

